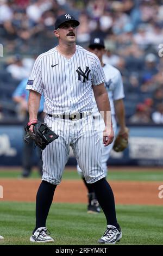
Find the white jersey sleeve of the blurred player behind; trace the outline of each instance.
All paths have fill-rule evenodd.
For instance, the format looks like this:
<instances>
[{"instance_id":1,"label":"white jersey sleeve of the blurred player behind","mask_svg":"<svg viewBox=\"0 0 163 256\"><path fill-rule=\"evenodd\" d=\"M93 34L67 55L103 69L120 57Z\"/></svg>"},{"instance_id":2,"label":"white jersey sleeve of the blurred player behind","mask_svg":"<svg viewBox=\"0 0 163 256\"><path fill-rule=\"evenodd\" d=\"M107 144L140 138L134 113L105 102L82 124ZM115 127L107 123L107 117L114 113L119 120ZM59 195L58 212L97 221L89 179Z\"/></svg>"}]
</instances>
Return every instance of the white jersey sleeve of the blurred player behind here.
<instances>
[{"instance_id":1,"label":"white jersey sleeve of the blurred player behind","mask_svg":"<svg viewBox=\"0 0 163 256\"><path fill-rule=\"evenodd\" d=\"M120 100L124 98L123 81L120 71L117 73L116 86L112 96L114 100Z\"/></svg>"}]
</instances>

